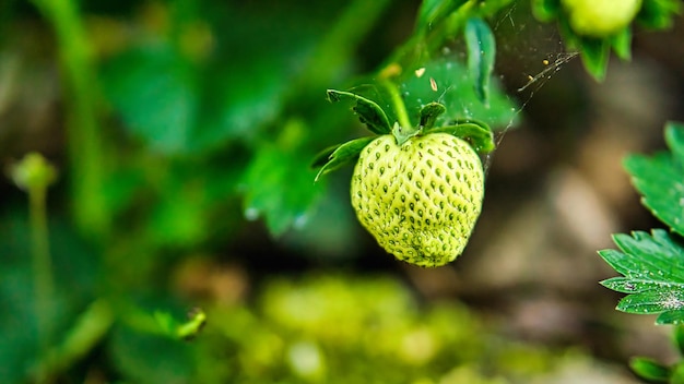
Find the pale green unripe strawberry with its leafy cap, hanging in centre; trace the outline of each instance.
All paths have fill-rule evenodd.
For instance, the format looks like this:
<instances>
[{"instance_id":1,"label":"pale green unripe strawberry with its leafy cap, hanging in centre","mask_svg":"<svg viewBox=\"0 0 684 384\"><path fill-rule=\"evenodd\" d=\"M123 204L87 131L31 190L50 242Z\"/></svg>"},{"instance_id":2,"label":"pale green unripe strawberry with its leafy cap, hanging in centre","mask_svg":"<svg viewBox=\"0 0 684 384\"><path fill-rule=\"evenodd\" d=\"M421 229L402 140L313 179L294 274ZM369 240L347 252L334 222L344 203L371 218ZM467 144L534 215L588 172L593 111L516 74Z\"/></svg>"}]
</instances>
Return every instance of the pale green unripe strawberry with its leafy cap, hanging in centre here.
<instances>
[{"instance_id":1,"label":"pale green unripe strawberry with its leafy cap, hanging in centre","mask_svg":"<svg viewBox=\"0 0 684 384\"><path fill-rule=\"evenodd\" d=\"M453 261L482 209L484 171L477 152L494 148L488 127L473 120L435 127L445 107L432 103L421 110L416 128L396 122L390 129L374 101L339 91L328 91L328 96L332 101L355 100L361 121L378 135L323 151L314 161L322 166L319 177L358 158L352 205L378 243L420 266Z\"/></svg>"}]
</instances>

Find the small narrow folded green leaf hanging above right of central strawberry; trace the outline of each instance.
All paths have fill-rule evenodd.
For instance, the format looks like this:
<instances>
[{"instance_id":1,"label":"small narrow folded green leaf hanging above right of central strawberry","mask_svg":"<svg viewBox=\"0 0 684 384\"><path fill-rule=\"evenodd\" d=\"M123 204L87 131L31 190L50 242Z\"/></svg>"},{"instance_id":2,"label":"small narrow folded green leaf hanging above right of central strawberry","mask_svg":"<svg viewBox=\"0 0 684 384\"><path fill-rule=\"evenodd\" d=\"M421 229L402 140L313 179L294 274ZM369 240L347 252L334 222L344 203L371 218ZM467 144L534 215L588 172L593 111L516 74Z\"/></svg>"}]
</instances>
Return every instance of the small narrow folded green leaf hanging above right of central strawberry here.
<instances>
[{"instance_id":1,"label":"small narrow folded green leaf hanging above right of central strawberry","mask_svg":"<svg viewBox=\"0 0 684 384\"><path fill-rule=\"evenodd\" d=\"M496 59L496 40L490 25L482 19L470 19L465 23L468 46L468 70L474 80L473 86L480 101L488 105L490 77Z\"/></svg>"}]
</instances>

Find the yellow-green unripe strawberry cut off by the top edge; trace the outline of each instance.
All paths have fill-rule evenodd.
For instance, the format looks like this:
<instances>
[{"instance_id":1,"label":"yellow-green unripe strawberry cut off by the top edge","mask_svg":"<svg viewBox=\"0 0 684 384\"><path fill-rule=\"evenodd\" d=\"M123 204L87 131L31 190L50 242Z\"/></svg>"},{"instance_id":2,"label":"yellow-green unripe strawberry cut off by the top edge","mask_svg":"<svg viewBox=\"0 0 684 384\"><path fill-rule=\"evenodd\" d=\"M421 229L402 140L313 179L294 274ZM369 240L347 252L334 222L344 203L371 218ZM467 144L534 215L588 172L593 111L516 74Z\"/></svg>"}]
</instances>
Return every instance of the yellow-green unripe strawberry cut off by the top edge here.
<instances>
[{"instance_id":1,"label":"yellow-green unripe strawberry cut off by the top edge","mask_svg":"<svg viewBox=\"0 0 684 384\"><path fill-rule=\"evenodd\" d=\"M632 23L641 0L562 0L570 26L579 35L606 37Z\"/></svg>"}]
</instances>

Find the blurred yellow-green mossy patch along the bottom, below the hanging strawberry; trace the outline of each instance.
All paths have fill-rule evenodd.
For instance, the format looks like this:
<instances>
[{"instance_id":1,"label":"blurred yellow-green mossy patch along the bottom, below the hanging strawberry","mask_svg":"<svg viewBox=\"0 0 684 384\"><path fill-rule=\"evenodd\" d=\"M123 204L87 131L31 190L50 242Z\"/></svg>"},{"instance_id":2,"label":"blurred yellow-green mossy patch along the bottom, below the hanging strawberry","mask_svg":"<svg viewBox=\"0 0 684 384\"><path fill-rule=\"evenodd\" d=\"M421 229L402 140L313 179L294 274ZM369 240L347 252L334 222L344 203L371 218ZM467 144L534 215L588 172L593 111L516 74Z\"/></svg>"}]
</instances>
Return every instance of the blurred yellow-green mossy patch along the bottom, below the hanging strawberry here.
<instances>
[{"instance_id":1,"label":"blurred yellow-green mossy patch along the bottom, below the hanging strawberry","mask_svg":"<svg viewBox=\"0 0 684 384\"><path fill-rule=\"evenodd\" d=\"M422 308L389 276L276 278L256 302L210 314L204 337L238 351L219 382L526 382L571 359L506 341L460 303Z\"/></svg>"}]
</instances>

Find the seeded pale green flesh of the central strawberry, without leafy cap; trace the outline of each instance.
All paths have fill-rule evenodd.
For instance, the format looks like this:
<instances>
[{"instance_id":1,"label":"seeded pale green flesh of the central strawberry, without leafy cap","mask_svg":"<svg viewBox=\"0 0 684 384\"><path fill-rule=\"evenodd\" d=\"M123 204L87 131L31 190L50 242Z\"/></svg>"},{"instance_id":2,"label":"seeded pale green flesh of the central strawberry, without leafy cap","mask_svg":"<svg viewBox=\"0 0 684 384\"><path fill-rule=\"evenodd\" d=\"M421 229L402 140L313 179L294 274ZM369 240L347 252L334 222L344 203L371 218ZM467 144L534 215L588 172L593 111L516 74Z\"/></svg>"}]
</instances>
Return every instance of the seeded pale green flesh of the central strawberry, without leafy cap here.
<instances>
[{"instance_id":1,"label":"seeded pale green flesh of the central strawberry, without leafy cap","mask_svg":"<svg viewBox=\"0 0 684 384\"><path fill-rule=\"evenodd\" d=\"M362 225L397 259L439 266L456 259L482 209L484 172L475 151L447 133L380 135L361 152L351 188Z\"/></svg>"}]
</instances>

